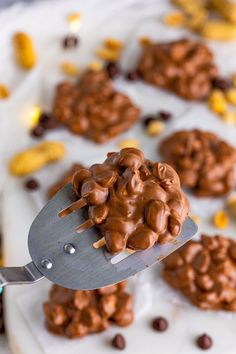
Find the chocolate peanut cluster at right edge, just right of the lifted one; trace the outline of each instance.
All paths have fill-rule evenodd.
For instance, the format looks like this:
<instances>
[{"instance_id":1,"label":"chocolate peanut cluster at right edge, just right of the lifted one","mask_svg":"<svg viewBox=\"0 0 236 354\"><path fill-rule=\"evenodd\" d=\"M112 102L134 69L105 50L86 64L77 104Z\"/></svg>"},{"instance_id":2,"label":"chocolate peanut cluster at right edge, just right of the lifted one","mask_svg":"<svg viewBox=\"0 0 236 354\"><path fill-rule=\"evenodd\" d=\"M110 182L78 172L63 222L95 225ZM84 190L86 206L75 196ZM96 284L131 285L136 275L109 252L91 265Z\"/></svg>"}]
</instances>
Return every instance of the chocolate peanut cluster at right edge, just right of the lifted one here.
<instances>
[{"instance_id":1,"label":"chocolate peanut cluster at right edge, just right of the lifted one","mask_svg":"<svg viewBox=\"0 0 236 354\"><path fill-rule=\"evenodd\" d=\"M181 130L162 142L160 152L177 171L182 186L197 196L223 196L235 185L236 150L216 134Z\"/></svg>"}]
</instances>

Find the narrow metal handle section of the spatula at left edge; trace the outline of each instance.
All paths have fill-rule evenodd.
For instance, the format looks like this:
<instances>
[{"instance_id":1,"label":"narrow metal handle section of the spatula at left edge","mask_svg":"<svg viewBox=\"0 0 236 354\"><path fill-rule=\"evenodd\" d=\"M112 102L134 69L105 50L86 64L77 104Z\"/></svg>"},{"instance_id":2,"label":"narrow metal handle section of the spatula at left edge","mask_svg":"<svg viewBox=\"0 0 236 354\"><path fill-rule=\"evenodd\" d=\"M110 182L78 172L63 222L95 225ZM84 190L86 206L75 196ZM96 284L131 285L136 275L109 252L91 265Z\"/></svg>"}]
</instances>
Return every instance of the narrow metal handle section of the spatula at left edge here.
<instances>
[{"instance_id":1,"label":"narrow metal handle section of the spatula at left edge","mask_svg":"<svg viewBox=\"0 0 236 354\"><path fill-rule=\"evenodd\" d=\"M22 267L0 268L0 287L13 284L32 284L44 278L33 262Z\"/></svg>"}]
</instances>

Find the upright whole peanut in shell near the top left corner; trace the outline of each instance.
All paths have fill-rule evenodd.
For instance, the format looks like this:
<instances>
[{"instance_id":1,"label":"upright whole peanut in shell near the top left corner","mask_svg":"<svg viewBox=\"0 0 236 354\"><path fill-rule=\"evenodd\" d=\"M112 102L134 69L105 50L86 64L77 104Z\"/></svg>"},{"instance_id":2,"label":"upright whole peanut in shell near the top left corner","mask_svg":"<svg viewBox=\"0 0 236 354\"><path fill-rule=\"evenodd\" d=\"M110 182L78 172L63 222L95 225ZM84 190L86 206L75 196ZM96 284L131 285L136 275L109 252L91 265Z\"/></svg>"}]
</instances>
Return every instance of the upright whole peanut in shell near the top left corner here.
<instances>
[{"instance_id":1,"label":"upright whole peanut in shell near the top left corner","mask_svg":"<svg viewBox=\"0 0 236 354\"><path fill-rule=\"evenodd\" d=\"M23 32L17 32L13 37L13 44L18 64L23 69L32 69L36 64L37 56L30 36Z\"/></svg>"}]
</instances>

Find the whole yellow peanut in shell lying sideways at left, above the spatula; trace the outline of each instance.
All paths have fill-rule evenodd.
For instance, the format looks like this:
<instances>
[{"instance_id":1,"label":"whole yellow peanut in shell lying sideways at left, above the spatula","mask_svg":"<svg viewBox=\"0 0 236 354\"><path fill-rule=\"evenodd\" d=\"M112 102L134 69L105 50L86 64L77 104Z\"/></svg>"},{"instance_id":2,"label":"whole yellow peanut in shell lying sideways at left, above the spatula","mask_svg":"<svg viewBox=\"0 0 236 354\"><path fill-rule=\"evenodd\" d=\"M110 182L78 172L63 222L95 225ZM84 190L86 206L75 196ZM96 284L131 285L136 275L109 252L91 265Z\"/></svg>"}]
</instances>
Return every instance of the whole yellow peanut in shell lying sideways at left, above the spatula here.
<instances>
[{"instance_id":1,"label":"whole yellow peanut in shell lying sideways at left, above the spatula","mask_svg":"<svg viewBox=\"0 0 236 354\"><path fill-rule=\"evenodd\" d=\"M36 172L51 162L62 159L65 146L57 141L45 141L31 149L16 154L9 164L9 171L14 176L24 176Z\"/></svg>"}]
</instances>

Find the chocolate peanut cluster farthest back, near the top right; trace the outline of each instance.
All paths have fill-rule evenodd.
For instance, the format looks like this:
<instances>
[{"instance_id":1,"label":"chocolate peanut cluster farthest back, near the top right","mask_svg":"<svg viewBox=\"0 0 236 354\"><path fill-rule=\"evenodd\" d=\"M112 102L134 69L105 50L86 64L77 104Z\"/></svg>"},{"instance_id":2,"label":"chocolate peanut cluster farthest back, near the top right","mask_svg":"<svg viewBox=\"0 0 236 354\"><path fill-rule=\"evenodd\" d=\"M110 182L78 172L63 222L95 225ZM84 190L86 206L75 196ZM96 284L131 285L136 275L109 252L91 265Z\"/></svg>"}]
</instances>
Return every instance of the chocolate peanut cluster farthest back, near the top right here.
<instances>
[{"instance_id":1,"label":"chocolate peanut cluster farthest back, near the top right","mask_svg":"<svg viewBox=\"0 0 236 354\"><path fill-rule=\"evenodd\" d=\"M218 73L210 49L192 39L145 46L137 70L143 80L187 100L206 98Z\"/></svg>"}]
</instances>

